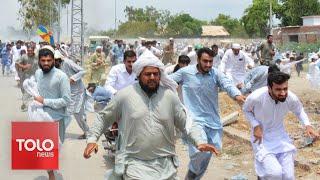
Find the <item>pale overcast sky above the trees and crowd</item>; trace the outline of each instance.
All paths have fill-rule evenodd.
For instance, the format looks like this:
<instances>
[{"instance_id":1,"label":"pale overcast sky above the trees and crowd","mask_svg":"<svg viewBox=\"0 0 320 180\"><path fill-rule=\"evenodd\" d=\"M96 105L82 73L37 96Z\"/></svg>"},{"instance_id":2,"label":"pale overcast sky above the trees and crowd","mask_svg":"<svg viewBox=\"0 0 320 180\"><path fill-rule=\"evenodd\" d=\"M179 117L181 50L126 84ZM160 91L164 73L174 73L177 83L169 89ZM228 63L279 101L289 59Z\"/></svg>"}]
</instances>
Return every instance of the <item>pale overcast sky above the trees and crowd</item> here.
<instances>
[{"instance_id":1,"label":"pale overcast sky above the trees and crowd","mask_svg":"<svg viewBox=\"0 0 320 180\"><path fill-rule=\"evenodd\" d=\"M84 20L88 27L105 30L114 27L115 0L83 0ZM157 9L167 9L172 14L185 12L201 20L211 20L219 13L228 14L239 18L243 15L244 9L252 3L252 0L117 0L118 20L125 20L124 8L126 6L145 7L154 6ZM0 0L0 31L4 31L8 26L21 29L18 21L19 3L17 0ZM62 26L66 33L67 10L63 12ZM70 16L70 9L69 9ZM69 20L70 24L70 20Z\"/></svg>"}]
</instances>

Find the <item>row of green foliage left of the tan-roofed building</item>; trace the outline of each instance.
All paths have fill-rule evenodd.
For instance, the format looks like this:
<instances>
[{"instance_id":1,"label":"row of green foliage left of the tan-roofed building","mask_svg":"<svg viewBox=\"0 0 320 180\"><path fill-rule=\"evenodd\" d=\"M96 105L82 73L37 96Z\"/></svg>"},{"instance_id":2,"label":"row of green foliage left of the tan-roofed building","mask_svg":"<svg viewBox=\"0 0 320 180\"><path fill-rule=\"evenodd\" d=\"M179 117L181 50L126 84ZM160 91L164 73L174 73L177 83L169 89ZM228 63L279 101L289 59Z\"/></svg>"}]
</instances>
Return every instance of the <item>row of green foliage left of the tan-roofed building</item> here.
<instances>
[{"instance_id":1,"label":"row of green foliage left of the tan-roofed building","mask_svg":"<svg viewBox=\"0 0 320 180\"><path fill-rule=\"evenodd\" d=\"M127 6L124 12L128 20L119 26L118 36L190 37L200 36L202 32L203 22L189 14L172 16L169 11L157 10L152 6L146 6L144 9Z\"/></svg>"}]
</instances>

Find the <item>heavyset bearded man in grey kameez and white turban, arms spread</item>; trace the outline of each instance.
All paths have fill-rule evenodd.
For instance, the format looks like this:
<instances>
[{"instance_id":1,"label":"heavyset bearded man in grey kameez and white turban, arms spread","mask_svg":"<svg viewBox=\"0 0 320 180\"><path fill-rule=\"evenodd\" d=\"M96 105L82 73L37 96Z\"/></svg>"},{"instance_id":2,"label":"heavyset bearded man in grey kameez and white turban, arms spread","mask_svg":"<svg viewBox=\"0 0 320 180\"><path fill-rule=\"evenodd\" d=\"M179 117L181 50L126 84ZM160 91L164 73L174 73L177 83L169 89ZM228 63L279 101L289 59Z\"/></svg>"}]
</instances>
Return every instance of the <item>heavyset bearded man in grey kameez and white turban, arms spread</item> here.
<instances>
[{"instance_id":1,"label":"heavyset bearded man in grey kameez and white turban, arms spread","mask_svg":"<svg viewBox=\"0 0 320 180\"><path fill-rule=\"evenodd\" d=\"M97 151L97 139L117 120L118 150L115 167L107 179L177 179L175 128L187 134L199 150L217 153L213 145L202 139L201 129L188 123L186 111L174 92L177 84L167 78L164 65L156 56L144 52L133 64L133 71L139 83L120 90L98 114L90 129L85 158Z\"/></svg>"}]
</instances>

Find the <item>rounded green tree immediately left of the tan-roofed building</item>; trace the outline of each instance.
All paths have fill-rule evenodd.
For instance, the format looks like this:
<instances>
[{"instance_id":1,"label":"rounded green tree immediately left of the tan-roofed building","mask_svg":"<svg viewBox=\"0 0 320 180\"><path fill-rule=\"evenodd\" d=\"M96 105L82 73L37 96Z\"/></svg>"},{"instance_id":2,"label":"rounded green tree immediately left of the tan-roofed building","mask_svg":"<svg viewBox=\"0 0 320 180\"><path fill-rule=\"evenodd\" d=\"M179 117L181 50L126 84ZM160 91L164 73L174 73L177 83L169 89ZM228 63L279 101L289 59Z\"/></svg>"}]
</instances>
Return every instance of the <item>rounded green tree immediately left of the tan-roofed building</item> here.
<instances>
[{"instance_id":1,"label":"rounded green tree immediately left of the tan-roofed building","mask_svg":"<svg viewBox=\"0 0 320 180\"><path fill-rule=\"evenodd\" d=\"M202 33L203 22L189 14L180 14L169 21L166 35L173 37L198 37Z\"/></svg>"}]
</instances>

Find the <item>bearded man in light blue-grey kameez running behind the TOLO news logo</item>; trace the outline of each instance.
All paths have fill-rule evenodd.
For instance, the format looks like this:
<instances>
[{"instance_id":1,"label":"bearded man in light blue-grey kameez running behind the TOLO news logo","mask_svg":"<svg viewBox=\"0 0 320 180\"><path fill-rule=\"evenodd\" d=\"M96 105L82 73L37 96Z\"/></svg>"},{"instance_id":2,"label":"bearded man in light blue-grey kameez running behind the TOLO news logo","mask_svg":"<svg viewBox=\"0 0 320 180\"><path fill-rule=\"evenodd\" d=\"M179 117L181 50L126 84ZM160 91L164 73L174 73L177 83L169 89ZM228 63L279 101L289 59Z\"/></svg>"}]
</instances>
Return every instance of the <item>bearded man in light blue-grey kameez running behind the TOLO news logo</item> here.
<instances>
[{"instance_id":1,"label":"bearded man in light blue-grey kameez running behind the TOLO news logo","mask_svg":"<svg viewBox=\"0 0 320 180\"><path fill-rule=\"evenodd\" d=\"M54 49L51 46L42 47L38 56L41 69L36 71L35 79L40 96L34 100L43 104L43 110L59 122L59 137L63 142L65 122L70 118L67 113L71 101L69 79L64 72L54 67ZM48 174L49 180L55 180L53 170L49 170Z\"/></svg>"}]
</instances>

